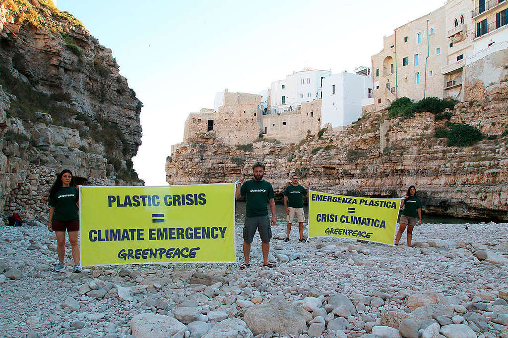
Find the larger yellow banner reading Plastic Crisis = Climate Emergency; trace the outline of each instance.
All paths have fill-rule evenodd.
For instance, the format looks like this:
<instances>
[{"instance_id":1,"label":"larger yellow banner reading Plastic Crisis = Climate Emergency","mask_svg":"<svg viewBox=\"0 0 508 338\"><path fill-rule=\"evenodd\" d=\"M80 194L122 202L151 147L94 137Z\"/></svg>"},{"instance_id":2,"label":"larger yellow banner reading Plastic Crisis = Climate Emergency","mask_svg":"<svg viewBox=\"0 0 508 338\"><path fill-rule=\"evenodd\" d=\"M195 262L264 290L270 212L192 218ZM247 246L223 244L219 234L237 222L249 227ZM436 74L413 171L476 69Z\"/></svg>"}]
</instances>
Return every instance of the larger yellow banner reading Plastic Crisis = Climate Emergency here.
<instances>
[{"instance_id":1,"label":"larger yellow banner reading Plastic Crisis = Climate Emergency","mask_svg":"<svg viewBox=\"0 0 508 338\"><path fill-rule=\"evenodd\" d=\"M81 186L81 264L235 262L235 184Z\"/></svg>"}]
</instances>

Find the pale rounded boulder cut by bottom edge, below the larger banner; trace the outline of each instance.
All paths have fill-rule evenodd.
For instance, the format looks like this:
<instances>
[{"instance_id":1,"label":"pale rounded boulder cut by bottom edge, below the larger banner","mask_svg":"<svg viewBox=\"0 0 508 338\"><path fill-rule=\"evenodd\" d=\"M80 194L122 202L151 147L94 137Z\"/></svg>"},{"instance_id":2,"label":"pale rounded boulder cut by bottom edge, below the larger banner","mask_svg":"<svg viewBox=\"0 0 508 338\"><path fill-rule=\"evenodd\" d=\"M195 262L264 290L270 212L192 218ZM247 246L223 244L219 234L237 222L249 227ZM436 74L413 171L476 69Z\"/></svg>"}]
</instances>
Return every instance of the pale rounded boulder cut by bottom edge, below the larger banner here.
<instances>
[{"instance_id":1,"label":"pale rounded boulder cut by bottom edge, below the larger banner","mask_svg":"<svg viewBox=\"0 0 508 338\"><path fill-rule=\"evenodd\" d=\"M142 313L131 320L132 334L136 338L165 338L183 333L187 327L173 317Z\"/></svg>"}]
</instances>

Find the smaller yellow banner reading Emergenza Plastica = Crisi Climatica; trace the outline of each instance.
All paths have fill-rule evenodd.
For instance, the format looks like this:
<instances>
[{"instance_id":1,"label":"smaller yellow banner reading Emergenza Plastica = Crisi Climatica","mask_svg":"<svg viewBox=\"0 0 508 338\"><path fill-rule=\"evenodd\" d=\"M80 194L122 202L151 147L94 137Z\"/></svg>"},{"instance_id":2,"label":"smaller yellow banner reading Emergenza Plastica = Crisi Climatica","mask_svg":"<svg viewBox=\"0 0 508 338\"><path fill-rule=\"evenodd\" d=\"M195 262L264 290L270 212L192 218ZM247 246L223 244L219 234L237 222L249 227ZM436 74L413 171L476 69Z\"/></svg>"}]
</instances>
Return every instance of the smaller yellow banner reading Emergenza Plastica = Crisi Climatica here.
<instances>
[{"instance_id":1,"label":"smaller yellow banner reading Emergenza Plastica = Crisi Climatica","mask_svg":"<svg viewBox=\"0 0 508 338\"><path fill-rule=\"evenodd\" d=\"M393 245L400 199L310 191L309 237L345 237Z\"/></svg>"}]
</instances>

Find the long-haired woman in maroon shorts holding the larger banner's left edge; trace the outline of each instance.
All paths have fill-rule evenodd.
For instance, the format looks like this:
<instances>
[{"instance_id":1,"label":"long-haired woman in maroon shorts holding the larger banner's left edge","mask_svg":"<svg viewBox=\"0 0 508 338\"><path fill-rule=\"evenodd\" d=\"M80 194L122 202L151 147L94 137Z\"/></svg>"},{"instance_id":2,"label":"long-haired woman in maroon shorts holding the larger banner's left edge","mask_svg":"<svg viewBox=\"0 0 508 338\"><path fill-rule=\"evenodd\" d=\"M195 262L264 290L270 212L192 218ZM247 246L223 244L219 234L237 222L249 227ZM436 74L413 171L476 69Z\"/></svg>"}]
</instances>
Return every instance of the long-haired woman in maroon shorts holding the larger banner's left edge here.
<instances>
[{"instance_id":1,"label":"long-haired woman in maroon shorts holding the larger banner's left edge","mask_svg":"<svg viewBox=\"0 0 508 338\"><path fill-rule=\"evenodd\" d=\"M56 177L56 181L49 190L49 222L48 230L56 234L58 265L53 269L60 271L65 267L65 232L69 233L69 242L72 247L74 258L73 272L81 272L79 264L79 191L74 185L74 177L68 169L62 170Z\"/></svg>"}]
</instances>

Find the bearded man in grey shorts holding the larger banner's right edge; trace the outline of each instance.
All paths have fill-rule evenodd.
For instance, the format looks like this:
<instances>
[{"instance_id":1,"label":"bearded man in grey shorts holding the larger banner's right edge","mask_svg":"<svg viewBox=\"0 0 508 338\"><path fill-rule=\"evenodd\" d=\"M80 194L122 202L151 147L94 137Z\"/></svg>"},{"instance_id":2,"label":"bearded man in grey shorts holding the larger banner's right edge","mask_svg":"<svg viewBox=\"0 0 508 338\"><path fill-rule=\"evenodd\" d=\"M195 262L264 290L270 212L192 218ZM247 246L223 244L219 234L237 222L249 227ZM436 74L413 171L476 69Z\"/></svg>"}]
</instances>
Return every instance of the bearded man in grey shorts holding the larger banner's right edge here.
<instances>
[{"instance_id":1,"label":"bearded man in grey shorts holding the larger banner's right edge","mask_svg":"<svg viewBox=\"0 0 508 338\"><path fill-rule=\"evenodd\" d=\"M268 253L270 252L270 239L272 237L271 225L275 225L275 200L272 184L263 179L265 174L265 165L261 162L256 162L252 166L254 178L248 181L243 180L245 177L238 179L236 186L236 198L245 196L246 198L246 212L245 223L243 227L243 256L245 258L244 264L240 265L240 269L249 268L249 255L250 244L259 231L261 237L261 250L263 251L263 266L268 268L275 267L274 264L268 261ZM240 186L241 185L241 186ZM266 201L270 203L270 210L272 212L272 219L268 219L268 209Z\"/></svg>"}]
</instances>

